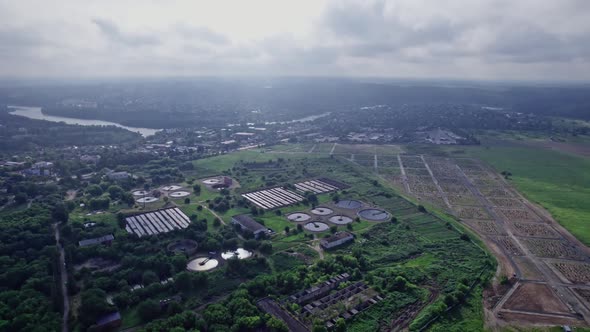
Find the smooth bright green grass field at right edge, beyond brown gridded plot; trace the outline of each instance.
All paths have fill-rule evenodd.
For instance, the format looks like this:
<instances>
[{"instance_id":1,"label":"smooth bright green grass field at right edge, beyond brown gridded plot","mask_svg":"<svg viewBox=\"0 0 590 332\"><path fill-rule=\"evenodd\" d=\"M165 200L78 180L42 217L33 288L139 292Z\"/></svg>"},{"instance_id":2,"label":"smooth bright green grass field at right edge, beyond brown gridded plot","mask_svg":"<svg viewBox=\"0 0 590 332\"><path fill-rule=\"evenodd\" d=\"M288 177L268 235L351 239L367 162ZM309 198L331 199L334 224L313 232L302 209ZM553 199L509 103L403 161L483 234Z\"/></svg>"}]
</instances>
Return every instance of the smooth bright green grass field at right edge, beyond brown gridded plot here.
<instances>
[{"instance_id":1,"label":"smooth bright green grass field at right edge, beyond brown gridded plot","mask_svg":"<svg viewBox=\"0 0 590 332\"><path fill-rule=\"evenodd\" d=\"M590 159L530 146L469 147L586 245L590 245Z\"/></svg>"}]
</instances>

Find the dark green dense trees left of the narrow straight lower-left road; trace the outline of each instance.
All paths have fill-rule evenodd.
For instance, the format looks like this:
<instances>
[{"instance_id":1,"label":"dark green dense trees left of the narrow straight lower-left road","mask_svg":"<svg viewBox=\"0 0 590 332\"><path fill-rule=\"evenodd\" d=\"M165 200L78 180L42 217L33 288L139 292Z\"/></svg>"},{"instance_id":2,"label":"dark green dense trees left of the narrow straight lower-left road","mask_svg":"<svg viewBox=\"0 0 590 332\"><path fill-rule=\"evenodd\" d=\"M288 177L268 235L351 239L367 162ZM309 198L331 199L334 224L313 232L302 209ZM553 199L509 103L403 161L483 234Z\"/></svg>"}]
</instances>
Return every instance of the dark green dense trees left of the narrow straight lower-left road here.
<instances>
[{"instance_id":1,"label":"dark green dense trees left of the narrow straight lower-left road","mask_svg":"<svg viewBox=\"0 0 590 332\"><path fill-rule=\"evenodd\" d=\"M52 223L59 196L2 215L0 331L58 331L61 316L58 254ZM58 204L59 205L59 204Z\"/></svg>"}]
</instances>

